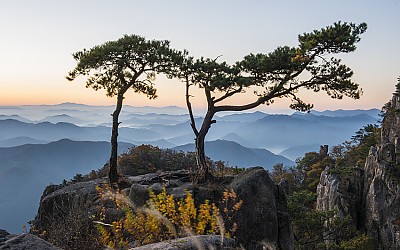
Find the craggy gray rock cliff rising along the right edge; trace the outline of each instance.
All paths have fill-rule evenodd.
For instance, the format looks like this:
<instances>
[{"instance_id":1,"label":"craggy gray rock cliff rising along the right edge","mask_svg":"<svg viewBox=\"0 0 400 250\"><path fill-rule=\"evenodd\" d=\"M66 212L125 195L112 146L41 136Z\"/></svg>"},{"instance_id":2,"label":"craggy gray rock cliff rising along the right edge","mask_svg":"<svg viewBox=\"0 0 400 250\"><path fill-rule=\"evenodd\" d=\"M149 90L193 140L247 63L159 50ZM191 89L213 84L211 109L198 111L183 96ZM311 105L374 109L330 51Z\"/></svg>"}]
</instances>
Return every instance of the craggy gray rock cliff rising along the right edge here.
<instances>
[{"instance_id":1,"label":"craggy gray rock cliff rising along the right edge","mask_svg":"<svg viewBox=\"0 0 400 250\"><path fill-rule=\"evenodd\" d=\"M363 167L343 177L327 168L317 187L317 209L350 215L376 249L400 249L400 82L386 106L380 142Z\"/></svg>"}]
</instances>

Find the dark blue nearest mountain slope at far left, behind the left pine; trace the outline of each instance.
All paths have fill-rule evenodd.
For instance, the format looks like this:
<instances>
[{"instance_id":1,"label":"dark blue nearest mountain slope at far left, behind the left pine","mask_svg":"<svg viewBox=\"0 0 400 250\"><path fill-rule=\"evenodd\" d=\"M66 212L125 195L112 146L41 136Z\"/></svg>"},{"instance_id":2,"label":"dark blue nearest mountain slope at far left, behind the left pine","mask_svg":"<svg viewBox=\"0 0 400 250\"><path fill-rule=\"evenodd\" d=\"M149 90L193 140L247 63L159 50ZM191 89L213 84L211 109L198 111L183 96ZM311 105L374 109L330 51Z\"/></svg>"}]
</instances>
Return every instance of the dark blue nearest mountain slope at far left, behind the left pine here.
<instances>
[{"instance_id":1,"label":"dark blue nearest mountain slope at far left, behind the left pine","mask_svg":"<svg viewBox=\"0 0 400 250\"><path fill-rule=\"evenodd\" d=\"M131 144L120 143L120 152ZM48 144L0 148L0 225L20 232L36 213L50 183L101 168L109 159L108 142L63 139Z\"/></svg>"}]
</instances>

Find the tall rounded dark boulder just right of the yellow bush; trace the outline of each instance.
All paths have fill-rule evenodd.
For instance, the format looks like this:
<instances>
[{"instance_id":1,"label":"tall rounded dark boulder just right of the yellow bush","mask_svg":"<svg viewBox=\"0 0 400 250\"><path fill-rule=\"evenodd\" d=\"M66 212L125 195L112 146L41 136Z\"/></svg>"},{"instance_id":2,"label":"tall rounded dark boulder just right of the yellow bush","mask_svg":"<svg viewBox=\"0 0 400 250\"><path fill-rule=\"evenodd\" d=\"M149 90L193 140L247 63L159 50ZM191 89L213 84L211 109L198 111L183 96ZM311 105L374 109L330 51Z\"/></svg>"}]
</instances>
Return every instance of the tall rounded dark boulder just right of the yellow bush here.
<instances>
[{"instance_id":1,"label":"tall rounded dark boulder just right of the yellow bush","mask_svg":"<svg viewBox=\"0 0 400 250\"><path fill-rule=\"evenodd\" d=\"M238 244L246 249L293 249L283 191L263 168L250 168L231 183L243 205L236 214Z\"/></svg>"}]
</instances>

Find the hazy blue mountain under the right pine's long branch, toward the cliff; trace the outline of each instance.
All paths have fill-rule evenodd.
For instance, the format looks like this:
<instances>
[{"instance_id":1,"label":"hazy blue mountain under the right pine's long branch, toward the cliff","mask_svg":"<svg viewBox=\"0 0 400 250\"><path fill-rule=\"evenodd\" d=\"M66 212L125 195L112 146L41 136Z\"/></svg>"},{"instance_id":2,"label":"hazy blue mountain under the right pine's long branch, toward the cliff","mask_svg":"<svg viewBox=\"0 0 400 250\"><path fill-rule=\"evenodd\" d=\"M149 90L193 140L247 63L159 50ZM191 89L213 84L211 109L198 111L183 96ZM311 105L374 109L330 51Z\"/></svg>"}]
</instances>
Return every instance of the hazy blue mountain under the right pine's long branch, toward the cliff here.
<instances>
[{"instance_id":1,"label":"hazy blue mountain under the right pine's long branch, toward the cliff","mask_svg":"<svg viewBox=\"0 0 400 250\"><path fill-rule=\"evenodd\" d=\"M337 145L368 123L376 123L376 118L369 115L269 115L233 132L258 148L286 149L305 144Z\"/></svg>"}]
</instances>

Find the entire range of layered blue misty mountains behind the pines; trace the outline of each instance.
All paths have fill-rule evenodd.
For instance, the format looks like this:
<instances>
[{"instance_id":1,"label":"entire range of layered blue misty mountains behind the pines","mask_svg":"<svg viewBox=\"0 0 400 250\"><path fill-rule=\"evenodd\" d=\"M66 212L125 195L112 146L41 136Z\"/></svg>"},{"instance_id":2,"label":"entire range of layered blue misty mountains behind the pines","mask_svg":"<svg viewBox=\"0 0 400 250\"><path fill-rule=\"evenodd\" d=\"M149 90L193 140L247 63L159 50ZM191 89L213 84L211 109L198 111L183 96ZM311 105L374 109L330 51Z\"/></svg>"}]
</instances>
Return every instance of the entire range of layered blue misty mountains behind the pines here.
<instances>
[{"instance_id":1,"label":"entire range of layered blue misty mountains behind the pines","mask_svg":"<svg viewBox=\"0 0 400 250\"><path fill-rule=\"evenodd\" d=\"M0 107L0 225L20 232L32 219L50 183L101 168L109 158L112 106L60 105ZM206 154L231 166L277 163L293 166L321 144L336 145L378 120L379 111L339 110L308 114L263 112L217 117ZM124 107L120 152L140 144L194 151L185 109ZM199 124L201 118L198 116Z\"/></svg>"}]
</instances>

